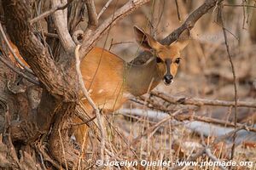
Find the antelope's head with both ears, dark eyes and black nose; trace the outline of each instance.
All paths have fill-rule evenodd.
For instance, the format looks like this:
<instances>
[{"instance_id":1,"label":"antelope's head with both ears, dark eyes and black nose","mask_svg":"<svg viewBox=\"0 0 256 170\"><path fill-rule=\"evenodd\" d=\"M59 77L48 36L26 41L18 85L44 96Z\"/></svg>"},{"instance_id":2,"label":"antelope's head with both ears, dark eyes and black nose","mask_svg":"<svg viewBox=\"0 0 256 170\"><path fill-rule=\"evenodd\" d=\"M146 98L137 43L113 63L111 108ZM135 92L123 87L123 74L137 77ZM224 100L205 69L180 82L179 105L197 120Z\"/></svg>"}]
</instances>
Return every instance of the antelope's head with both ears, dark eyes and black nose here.
<instances>
[{"instance_id":1,"label":"antelope's head with both ears, dark eyes and black nose","mask_svg":"<svg viewBox=\"0 0 256 170\"><path fill-rule=\"evenodd\" d=\"M154 37L137 28L137 26L134 26L134 31L138 44L154 55L157 68L164 75L162 77L163 81L166 85L170 85L177 73L181 59L180 52L189 43L189 30L183 31L177 41L172 42L171 45L161 44Z\"/></svg>"}]
</instances>

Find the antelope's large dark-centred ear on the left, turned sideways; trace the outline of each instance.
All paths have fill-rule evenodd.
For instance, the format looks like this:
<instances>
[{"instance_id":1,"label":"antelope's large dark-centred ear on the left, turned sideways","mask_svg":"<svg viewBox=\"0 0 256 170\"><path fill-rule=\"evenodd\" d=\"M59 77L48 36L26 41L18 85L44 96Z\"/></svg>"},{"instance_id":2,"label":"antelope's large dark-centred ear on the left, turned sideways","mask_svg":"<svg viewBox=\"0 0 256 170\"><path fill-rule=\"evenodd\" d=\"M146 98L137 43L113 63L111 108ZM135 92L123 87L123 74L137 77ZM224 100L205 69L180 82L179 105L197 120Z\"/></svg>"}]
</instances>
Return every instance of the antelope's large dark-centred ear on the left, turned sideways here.
<instances>
[{"instance_id":1,"label":"antelope's large dark-centred ear on the left, turned sideways","mask_svg":"<svg viewBox=\"0 0 256 170\"><path fill-rule=\"evenodd\" d=\"M134 33L136 36L137 43L143 47L146 50L154 49L158 51L162 44L160 42L157 42L154 37L151 37L149 34L145 33L141 29L139 29L137 26L133 26Z\"/></svg>"}]
</instances>

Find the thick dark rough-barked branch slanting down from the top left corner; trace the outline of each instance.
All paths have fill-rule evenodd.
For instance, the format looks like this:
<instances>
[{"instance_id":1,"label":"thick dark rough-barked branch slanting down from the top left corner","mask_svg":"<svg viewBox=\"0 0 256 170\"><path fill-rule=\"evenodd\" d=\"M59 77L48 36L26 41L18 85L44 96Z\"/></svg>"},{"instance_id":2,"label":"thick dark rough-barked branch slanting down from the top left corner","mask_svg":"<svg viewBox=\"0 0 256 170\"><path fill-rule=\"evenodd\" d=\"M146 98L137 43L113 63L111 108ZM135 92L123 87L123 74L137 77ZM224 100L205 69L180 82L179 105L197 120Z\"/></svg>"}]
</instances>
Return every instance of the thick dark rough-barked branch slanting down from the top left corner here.
<instances>
[{"instance_id":1,"label":"thick dark rough-barked branch slanting down from the top left corner","mask_svg":"<svg viewBox=\"0 0 256 170\"><path fill-rule=\"evenodd\" d=\"M32 26L28 22L32 16L30 8L30 3L26 1L3 1L6 30L50 94L55 97L63 96L62 73L51 59L48 49L33 34Z\"/></svg>"}]
</instances>

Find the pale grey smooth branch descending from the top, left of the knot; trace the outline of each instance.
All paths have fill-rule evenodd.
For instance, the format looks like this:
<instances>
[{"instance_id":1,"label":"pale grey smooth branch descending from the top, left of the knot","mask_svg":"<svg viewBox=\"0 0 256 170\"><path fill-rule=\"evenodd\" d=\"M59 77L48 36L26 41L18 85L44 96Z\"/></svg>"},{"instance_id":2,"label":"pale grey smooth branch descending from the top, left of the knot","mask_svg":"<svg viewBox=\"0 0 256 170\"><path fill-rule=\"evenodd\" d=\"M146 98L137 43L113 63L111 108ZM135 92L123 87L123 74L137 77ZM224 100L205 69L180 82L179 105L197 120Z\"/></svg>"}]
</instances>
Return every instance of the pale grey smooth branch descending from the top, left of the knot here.
<instances>
[{"instance_id":1,"label":"pale grey smooth branch descending from the top, left of the knot","mask_svg":"<svg viewBox=\"0 0 256 170\"><path fill-rule=\"evenodd\" d=\"M65 0L67 3L67 0ZM61 0L51 0L53 8L61 6ZM73 53L75 49L75 43L73 42L72 37L69 34L67 28L67 8L55 11L53 14L53 20L57 33L61 40L61 45L68 53Z\"/></svg>"}]
</instances>

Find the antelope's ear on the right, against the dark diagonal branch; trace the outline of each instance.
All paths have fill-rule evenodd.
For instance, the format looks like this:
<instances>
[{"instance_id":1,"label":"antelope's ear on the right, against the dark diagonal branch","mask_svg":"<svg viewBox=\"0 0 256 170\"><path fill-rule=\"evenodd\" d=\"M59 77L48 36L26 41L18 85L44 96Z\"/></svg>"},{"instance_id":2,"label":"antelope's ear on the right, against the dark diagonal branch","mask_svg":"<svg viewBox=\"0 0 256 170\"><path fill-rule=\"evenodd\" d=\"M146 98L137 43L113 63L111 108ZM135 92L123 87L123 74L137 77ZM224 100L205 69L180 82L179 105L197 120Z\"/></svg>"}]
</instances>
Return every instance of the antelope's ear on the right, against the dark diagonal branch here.
<instances>
[{"instance_id":1,"label":"antelope's ear on the right, against the dark diagonal branch","mask_svg":"<svg viewBox=\"0 0 256 170\"><path fill-rule=\"evenodd\" d=\"M177 38L177 41L173 42L170 46L174 46L175 48L178 48L179 51L182 51L183 48L189 44L189 36L189 29L184 30Z\"/></svg>"}]
</instances>

